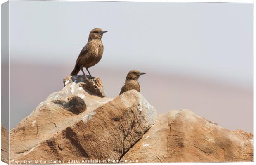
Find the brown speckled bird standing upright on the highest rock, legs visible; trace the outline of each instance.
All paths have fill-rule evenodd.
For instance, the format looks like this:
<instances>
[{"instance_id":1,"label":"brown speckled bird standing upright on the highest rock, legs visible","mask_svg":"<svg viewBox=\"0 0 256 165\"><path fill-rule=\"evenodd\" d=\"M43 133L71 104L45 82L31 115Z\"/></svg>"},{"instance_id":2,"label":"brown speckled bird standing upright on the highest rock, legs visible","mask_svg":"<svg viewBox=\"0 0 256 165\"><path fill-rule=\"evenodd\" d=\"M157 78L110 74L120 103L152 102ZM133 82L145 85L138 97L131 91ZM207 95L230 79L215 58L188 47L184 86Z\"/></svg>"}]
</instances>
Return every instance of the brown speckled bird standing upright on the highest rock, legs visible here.
<instances>
[{"instance_id":1,"label":"brown speckled bird standing upright on the highest rock, legs visible","mask_svg":"<svg viewBox=\"0 0 256 165\"><path fill-rule=\"evenodd\" d=\"M100 61L104 49L101 38L103 33L106 32L107 31L103 31L101 28L94 28L90 31L88 42L81 50L76 60L75 68L70 75L77 75L80 70L83 72L83 75L85 75L83 71L83 67L85 67L92 78L88 68Z\"/></svg>"}]
</instances>

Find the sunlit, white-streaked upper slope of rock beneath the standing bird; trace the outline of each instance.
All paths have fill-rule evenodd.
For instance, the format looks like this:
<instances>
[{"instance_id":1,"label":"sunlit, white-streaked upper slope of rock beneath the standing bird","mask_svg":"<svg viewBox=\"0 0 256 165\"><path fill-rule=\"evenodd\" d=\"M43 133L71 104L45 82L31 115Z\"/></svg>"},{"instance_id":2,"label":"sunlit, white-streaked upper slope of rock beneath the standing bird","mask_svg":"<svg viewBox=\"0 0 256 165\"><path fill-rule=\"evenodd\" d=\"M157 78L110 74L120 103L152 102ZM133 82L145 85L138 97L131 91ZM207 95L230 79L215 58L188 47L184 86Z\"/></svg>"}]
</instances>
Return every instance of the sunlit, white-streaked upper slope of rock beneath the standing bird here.
<instances>
[{"instance_id":1,"label":"sunlit, white-streaked upper slope of rock beneath the standing bird","mask_svg":"<svg viewBox=\"0 0 256 165\"><path fill-rule=\"evenodd\" d=\"M101 82L98 78L87 81L84 76L83 78L81 76L66 78L65 87L62 90L50 94L28 117L11 130L10 158L17 158L27 153L42 141L52 138L54 134L77 123L82 116L113 100L102 97L102 94L92 95L81 87L84 83L94 85L93 81ZM102 84L98 86L103 88ZM82 106L71 111L74 105L72 103L79 103Z\"/></svg>"}]
</instances>

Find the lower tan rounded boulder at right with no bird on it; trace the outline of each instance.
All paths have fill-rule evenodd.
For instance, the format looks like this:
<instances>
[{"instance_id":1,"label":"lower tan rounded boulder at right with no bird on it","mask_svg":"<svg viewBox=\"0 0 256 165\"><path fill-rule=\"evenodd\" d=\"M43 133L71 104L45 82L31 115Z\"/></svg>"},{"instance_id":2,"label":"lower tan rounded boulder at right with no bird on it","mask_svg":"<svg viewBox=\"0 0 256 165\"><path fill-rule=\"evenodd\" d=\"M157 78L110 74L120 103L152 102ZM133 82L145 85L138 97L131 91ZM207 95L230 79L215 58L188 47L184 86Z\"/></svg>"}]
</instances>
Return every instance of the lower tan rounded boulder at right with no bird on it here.
<instances>
[{"instance_id":1,"label":"lower tan rounded boulder at right with no bird on it","mask_svg":"<svg viewBox=\"0 0 256 165\"><path fill-rule=\"evenodd\" d=\"M123 157L139 163L253 161L253 135L231 131L190 110L159 115Z\"/></svg>"}]
</instances>

